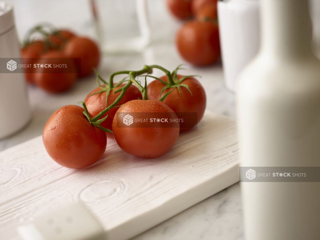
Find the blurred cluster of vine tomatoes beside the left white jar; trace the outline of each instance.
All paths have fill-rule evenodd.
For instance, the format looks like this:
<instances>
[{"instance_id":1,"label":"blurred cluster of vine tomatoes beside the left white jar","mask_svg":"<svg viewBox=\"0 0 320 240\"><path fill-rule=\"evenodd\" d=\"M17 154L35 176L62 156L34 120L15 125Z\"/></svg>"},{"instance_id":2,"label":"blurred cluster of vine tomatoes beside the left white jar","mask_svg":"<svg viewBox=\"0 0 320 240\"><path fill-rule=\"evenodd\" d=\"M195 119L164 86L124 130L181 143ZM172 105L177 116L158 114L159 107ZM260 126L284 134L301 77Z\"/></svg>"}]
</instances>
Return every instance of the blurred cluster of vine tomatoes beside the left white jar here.
<instances>
[{"instance_id":1,"label":"blurred cluster of vine tomatoes beside the left white jar","mask_svg":"<svg viewBox=\"0 0 320 240\"><path fill-rule=\"evenodd\" d=\"M34 34L41 39L30 40ZM95 42L65 29L31 29L21 49L25 77L47 92L65 92L78 77L98 66L100 51Z\"/></svg>"}]
</instances>

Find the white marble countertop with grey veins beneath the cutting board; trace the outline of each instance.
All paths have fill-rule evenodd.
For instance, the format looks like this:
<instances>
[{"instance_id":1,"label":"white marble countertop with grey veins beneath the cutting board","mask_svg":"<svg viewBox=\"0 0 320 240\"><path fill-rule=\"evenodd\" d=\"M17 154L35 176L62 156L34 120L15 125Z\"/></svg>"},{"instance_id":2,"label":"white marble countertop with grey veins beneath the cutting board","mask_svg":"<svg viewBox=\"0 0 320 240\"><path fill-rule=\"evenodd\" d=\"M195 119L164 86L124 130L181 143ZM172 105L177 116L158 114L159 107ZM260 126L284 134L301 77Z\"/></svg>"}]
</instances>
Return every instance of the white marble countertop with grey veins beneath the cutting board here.
<instances>
[{"instance_id":1,"label":"white marble countertop with grey veins beneath the cutting board","mask_svg":"<svg viewBox=\"0 0 320 240\"><path fill-rule=\"evenodd\" d=\"M90 12L88 13L88 1L76 1L79 9L73 12L73 15L67 12L67 9L75 5L75 1L71 0L55 1L54 5L52 5L52 2L49 4L47 1L36 2L36 0L29 1L28 4L26 3L27 1L22 1L23 4L20 1L20 5L18 5L17 0L7 2L12 3L15 7L16 25L20 36L23 36L28 28L37 22L49 20L55 22L58 26L69 26L78 34L95 38L95 34L92 31ZM45 7L44 5L36 4L43 4L43 2L49 4L47 8L51 8L50 5L52 5L51 11L46 11L46 14L32 14L32 12ZM108 77L111 72L118 70L140 69L144 64L157 64L172 70L180 63L185 63L174 46L174 33L181 23L168 14L163 2L161 0L152 1L152 3L151 1L148 2L150 3L150 24L153 29L153 42L148 49L142 54L103 56L100 65L100 74L102 76ZM66 4L63 8L64 11L60 12L63 16L68 15L66 17L67 21L61 20L57 13L61 9L59 3ZM53 14L54 12L55 14ZM27 18L28 21L23 20ZM158 71L154 73L155 76L159 76L159 74ZM223 85L221 63L206 68L195 68L187 65L186 70L182 70L181 74L202 76L199 81L203 84L207 95L207 109L235 118L234 95L228 92ZM33 111L32 120L20 132L0 140L0 151L42 134L45 122L57 108L68 104L77 104L78 101L84 100L87 93L95 86L95 76L78 80L73 89L58 95L48 94L34 86L28 86L30 104ZM207 198L133 239L243 239L239 183Z\"/></svg>"}]
</instances>

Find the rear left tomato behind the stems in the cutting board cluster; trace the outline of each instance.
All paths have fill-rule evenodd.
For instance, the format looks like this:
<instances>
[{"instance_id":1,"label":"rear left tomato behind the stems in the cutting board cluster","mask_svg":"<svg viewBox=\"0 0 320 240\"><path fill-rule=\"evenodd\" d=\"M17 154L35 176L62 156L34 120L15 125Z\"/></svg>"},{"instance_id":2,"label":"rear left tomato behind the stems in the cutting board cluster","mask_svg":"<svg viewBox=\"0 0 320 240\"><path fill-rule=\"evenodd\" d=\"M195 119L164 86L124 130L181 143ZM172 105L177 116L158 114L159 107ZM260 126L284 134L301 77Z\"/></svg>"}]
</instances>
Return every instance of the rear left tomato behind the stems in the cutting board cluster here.
<instances>
[{"instance_id":1,"label":"rear left tomato behind the stems in the cutting board cluster","mask_svg":"<svg viewBox=\"0 0 320 240\"><path fill-rule=\"evenodd\" d=\"M121 93L121 92L114 93L114 91L123 87L124 85L125 84L120 84L118 87L114 88L113 91L110 91L108 96L108 103L107 103L108 106L110 106ZM94 94L91 97L89 97L92 93L98 92L100 90L101 90L100 87L93 89L92 92L90 92L84 100L85 105L87 106L87 109L92 116L98 115L103 109L106 108L106 95L107 95L106 92ZM142 95L139 88L137 88L134 85L130 85L130 87L125 92L123 98L116 106L122 105L130 100L135 100L138 98L142 99ZM104 118L107 115L108 117L100 125L102 127L112 130L113 117L115 116L116 111L118 109L119 108L111 108L108 112L106 112L101 118Z\"/></svg>"}]
</instances>

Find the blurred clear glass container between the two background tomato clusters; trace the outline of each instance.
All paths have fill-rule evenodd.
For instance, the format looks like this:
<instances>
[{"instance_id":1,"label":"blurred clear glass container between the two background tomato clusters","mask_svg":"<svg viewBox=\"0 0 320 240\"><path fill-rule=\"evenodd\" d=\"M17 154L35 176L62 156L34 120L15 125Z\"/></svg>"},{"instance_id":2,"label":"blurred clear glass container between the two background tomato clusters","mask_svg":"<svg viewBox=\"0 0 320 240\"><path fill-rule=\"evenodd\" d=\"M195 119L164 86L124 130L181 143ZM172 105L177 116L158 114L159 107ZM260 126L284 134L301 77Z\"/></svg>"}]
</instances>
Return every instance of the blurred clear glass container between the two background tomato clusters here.
<instances>
[{"instance_id":1,"label":"blurred clear glass container between the two background tomato clusters","mask_svg":"<svg viewBox=\"0 0 320 240\"><path fill-rule=\"evenodd\" d=\"M146 0L91 0L90 3L103 52L142 52L148 46Z\"/></svg>"}]
</instances>

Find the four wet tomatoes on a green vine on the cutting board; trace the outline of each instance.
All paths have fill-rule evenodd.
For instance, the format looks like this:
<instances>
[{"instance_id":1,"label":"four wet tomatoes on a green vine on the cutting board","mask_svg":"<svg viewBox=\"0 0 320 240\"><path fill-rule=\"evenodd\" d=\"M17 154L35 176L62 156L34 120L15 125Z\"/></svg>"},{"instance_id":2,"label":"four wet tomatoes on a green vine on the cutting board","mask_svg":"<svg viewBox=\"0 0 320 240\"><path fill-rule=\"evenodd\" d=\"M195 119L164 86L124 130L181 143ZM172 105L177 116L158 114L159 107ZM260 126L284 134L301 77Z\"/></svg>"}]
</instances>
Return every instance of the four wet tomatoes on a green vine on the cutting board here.
<instances>
[{"instance_id":1,"label":"four wet tomatoes on a green vine on the cutting board","mask_svg":"<svg viewBox=\"0 0 320 240\"><path fill-rule=\"evenodd\" d=\"M141 86L136 78L150 74L153 68L163 70L165 75L151 76L155 80ZM134 156L154 158L165 154L180 132L191 129L201 120L206 106L202 85L194 76L178 75L178 69L170 73L158 65L144 66L139 71L115 72L108 83L97 74L99 86L84 99L83 108L76 105L59 108L45 124L43 142L49 156L64 167L89 166L105 152L110 133L122 150ZM113 83L118 74L126 77ZM182 121L155 121L148 127L139 124L126 127L123 120L128 113L141 117L161 114ZM184 113L195 114L196 120L192 122L191 115Z\"/></svg>"}]
</instances>

